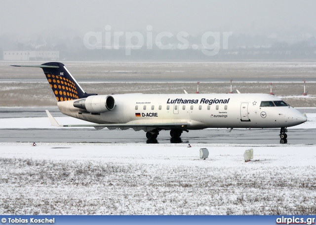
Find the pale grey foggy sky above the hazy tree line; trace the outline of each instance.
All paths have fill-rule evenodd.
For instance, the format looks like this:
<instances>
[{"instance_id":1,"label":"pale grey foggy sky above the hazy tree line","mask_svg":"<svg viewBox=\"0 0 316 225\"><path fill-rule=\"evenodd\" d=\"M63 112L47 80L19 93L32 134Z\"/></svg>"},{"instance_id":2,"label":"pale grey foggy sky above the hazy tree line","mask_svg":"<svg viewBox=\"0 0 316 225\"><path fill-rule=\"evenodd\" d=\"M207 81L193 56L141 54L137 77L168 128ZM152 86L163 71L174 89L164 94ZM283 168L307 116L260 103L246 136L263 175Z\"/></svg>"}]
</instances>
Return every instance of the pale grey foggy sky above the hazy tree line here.
<instances>
[{"instance_id":1,"label":"pale grey foggy sky above the hazy tree line","mask_svg":"<svg viewBox=\"0 0 316 225\"><path fill-rule=\"evenodd\" d=\"M0 34L229 31L249 34L316 31L314 0L0 0Z\"/></svg>"}]
</instances>

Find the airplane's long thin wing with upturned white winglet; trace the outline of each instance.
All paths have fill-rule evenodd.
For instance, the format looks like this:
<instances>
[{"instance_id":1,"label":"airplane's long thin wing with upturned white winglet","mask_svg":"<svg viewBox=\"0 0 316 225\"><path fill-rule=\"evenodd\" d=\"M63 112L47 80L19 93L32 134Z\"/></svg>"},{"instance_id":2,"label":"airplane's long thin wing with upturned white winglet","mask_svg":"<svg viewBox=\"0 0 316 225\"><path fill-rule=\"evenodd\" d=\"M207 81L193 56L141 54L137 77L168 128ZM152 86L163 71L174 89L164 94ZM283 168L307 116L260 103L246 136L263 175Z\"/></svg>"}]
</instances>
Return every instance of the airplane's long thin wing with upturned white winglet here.
<instances>
[{"instance_id":1,"label":"airplane's long thin wing with upturned white winglet","mask_svg":"<svg viewBox=\"0 0 316 225\"><path fill-rule=\"evenodd\" d=\"M142 123L142 124L79 124L79 125L59 125L55 118L50 114L48 110L45 110L52 126L55 127L94 127L95 129L134 129L149 131L155 128L161 129L185 129L188 127L187 122L172 122L172 123Z\"/></svg>"}]
</instances>

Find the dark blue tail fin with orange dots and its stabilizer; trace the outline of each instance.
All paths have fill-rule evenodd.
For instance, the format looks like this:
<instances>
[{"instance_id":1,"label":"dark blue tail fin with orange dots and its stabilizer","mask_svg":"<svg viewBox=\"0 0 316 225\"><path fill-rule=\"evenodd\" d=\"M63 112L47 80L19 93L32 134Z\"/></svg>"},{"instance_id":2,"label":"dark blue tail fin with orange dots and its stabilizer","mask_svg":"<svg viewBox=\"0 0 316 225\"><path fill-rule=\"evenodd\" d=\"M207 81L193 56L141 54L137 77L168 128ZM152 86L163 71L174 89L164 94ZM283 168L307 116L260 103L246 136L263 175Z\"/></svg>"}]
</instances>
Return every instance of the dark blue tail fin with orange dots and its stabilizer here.
<instances>
[{"instance_id":1,"label":"dark blue tail fin with orange dots and its stabilizer","mask_svg":"<svg viewBox=\"0 0 316 225\"><path fill-rule=\"evenodd\" d=\"M67 101L97 94L87 94L62 63L45 63L41 65L13 65L22 67L40 67L53 90L57 101Z\"/></svg>"}]
</instances>

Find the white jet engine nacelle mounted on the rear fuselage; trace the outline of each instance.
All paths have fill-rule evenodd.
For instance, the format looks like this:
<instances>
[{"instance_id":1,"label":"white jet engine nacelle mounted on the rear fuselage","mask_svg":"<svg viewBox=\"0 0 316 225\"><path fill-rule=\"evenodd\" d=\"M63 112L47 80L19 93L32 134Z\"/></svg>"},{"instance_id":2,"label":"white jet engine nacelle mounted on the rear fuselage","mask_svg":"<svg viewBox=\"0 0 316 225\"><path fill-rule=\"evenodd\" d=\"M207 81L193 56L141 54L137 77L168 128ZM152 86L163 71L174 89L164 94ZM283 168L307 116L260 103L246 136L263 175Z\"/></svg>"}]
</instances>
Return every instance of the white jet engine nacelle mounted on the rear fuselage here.
<instances>
[{"instance_id":1,"label":"white jet engine nacelle mounted on the rear fuselage","mask_svg":"<svg viewBox=\"0 0 316 225\"><path fill-rule=\"evenodd\" d=\"M75 101L74 107L85 109L90 113L103 113L114 109L115 100L112 96L88 96Z\"/></svg>"}]
</instances>

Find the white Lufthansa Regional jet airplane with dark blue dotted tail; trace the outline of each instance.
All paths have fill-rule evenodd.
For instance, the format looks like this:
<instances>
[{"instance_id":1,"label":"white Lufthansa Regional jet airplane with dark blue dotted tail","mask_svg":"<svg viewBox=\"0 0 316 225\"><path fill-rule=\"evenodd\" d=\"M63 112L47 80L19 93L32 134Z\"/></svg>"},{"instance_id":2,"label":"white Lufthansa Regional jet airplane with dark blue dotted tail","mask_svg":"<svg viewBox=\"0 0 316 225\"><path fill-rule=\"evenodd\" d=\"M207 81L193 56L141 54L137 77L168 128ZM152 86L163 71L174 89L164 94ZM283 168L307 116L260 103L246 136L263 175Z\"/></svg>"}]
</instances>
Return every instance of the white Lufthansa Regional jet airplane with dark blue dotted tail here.
<instances>
[{"instance_id":1,"label":"white Lufthansa Regional jet airplane with dark blue dotted tail","mask_svg":"<svg viewBox=\"0 0 316 225\"><path fill-rule=\"evenodd\" d=\"M87 94L62 63L12 66L42 68L59 110L94 123L59 125L46 110L51 125L57 127L144 130L148 139L156 139L160 130L179 138L183 131L207 128L280 128L279 136L286 140L288 127L307 121L269 94Z\"/></svg>"}]
</instances>

